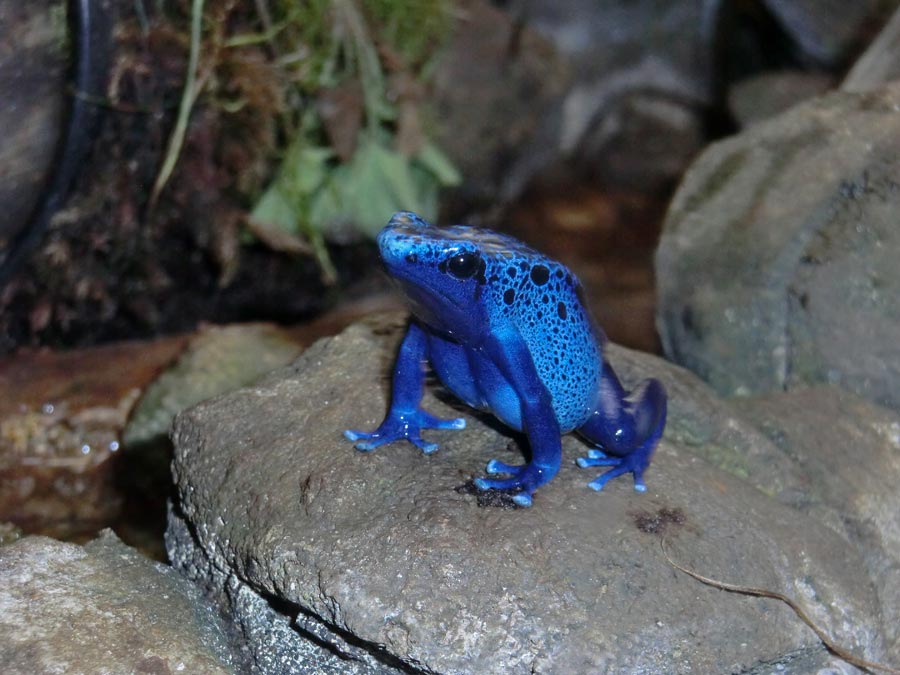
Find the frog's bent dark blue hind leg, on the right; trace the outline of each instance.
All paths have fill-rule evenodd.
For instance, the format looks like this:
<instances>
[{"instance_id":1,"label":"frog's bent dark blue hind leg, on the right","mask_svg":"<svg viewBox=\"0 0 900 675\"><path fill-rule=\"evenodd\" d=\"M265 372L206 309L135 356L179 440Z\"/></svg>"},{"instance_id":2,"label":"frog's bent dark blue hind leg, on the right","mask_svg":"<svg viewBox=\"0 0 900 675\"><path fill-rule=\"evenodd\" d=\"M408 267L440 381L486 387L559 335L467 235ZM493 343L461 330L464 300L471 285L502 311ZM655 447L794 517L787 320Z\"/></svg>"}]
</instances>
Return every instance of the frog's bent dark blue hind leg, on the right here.
<instances>
[{"instance_id":1,"label":"frog's bent dark blue hind leg, on the right","mask_svg":"<svg viewBox=\"0 0 900 675\"><path fill-rule=\"evenodd\" d=\"M625 391L608 363L600 378L600 403L590 419L578 429L602 450L589 450L577 462L582 468L612 467L588 487L602 490L607 482L626 473L634 476L634 489L644 492L644 471L666 426L666 390L658 380L642 382L631 394Z\"/></svg>"}]
</instances>

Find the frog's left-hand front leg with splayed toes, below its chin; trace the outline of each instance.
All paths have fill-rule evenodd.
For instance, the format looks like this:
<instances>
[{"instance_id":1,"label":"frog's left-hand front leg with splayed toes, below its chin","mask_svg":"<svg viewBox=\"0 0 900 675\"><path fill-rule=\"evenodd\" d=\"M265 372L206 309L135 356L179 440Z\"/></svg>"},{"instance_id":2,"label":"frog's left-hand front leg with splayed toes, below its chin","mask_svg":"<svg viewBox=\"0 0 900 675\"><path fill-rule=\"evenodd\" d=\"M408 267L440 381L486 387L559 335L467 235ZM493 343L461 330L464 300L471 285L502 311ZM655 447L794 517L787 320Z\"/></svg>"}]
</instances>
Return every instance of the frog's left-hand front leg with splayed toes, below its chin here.
<instances>
[{"instance_id":1,"label":"frog's left-hand front leg with splayed toes, below its chin","mask_svg":"<svg viewBox=\"0 0 900 675\"><path fill-rule=\"evenodd\" d=\"M437 450L438 446L437 443L428 443L422 439L422 429L462 429L466 426L466 421L462 418L441 419L419 407L427 359L427 336L418 324L412 322L397 354L391 407L384 421L372 432L351 429L344 432L348 440L360 441L356 443L357 450L369 452L379 445L405 438L423 452L430 453Z\"/></svg>"}]
</instances>

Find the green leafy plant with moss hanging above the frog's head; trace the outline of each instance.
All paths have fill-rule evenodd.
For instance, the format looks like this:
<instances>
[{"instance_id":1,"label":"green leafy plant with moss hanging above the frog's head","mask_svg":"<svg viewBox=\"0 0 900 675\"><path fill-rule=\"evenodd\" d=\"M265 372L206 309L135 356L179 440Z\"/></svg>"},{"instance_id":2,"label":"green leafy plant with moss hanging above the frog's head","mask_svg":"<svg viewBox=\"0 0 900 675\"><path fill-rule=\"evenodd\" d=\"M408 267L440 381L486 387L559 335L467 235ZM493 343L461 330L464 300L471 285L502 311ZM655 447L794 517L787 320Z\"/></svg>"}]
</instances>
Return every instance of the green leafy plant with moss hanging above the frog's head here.
<instances>
[{"instance_id":1,"label":"green leafy plant with moss hanging above the frog's head","mask_svg":"<svg viewBox=\"0 0 900 675\"><path fill-rule=\"evenodd\" d=\"M273 12L266 40L301 112L250 217L309 241L326 277L332 228L374 235L393 211L433 217L439 190L459 182L421 131L421 79L449 21L448 0L282 0ZM318 104L335 92L345 109L329 123Z\"/></svg>"}]
</instances>

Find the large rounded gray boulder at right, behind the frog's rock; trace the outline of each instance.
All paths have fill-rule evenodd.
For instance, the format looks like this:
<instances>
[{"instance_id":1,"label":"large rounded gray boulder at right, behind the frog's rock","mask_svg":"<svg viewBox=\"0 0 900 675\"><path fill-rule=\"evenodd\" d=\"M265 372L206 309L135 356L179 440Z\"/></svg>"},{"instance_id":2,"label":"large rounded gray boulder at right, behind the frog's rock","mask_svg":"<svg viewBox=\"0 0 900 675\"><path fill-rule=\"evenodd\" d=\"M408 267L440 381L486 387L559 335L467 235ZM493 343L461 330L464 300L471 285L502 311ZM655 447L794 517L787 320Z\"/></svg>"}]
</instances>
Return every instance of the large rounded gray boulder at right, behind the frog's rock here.
<instances>
[{"instance_id":1,"label":"large rounded gray boulder at right, behind the frog's rock","mask_svg":"<svg viewBox=\"0 0 900 675\"><path fill-rule=\"evenodd\" d=\"M900 85L711 146L657 253L666 354L725 394L837 383L900 408Z\"/></svg>"}]
</instances>

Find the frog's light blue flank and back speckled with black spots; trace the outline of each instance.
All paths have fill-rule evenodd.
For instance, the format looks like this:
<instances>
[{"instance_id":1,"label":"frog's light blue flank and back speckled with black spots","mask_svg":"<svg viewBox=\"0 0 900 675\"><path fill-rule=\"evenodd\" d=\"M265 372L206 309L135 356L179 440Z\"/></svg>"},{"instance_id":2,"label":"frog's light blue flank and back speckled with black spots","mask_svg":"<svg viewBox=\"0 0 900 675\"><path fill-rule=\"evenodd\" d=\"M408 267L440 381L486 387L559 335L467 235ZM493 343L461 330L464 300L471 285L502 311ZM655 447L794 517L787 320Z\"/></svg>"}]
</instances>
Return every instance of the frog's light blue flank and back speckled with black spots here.
<instances>
[{"instance_id":1,"label":"frog's light blue flank and back speckled with black spots","mask_svg":"<svg viewBox=\"0 0 900 675\"><path fill-rule=\"evenodd\" d=\"M489 257L490 311L516 326L550 392L560 427L576 429L597 407L605 338L568 268L515 239L494 236L507 247Z\"/></svg>"}]
</instances>

